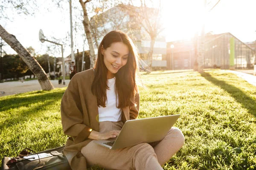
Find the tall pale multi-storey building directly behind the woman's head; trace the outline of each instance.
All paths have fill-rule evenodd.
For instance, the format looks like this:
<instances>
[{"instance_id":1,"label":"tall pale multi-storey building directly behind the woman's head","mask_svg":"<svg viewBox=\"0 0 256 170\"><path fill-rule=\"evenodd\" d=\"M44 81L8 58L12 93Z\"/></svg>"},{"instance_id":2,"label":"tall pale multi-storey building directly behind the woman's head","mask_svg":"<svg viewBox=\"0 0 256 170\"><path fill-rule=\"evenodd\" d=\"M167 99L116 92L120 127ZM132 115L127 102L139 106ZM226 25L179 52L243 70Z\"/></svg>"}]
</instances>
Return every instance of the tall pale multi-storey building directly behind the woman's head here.
<instances>
[{"instance_id":1,"label":"tall pale multi-storey building directly behind the woman's head","mask_svg":"<svg viewBox=\"0 0 256 170\"><path fill-rule=\"evenodd\" d=\"M142 59L140 65L146 67L146 65L149 64L147 55L150 49L151 38L147 31L136 22L134 15L128 10L124 10L125 8L123 6L124 5L115 6L91 18L90 22L93 28L92 37L95 42L95 47L98 48L105 34L112 30L120 29L128 34L136 43ZM140 8L138 8L138 10L140 10ZM152 9L147 8L145 10ZM109 18L109 16L111 16L111 18ZM163 32L161 32L154 42L152 67L166 68L166 66L166 39Z\"/></svg>"}]
</instances>

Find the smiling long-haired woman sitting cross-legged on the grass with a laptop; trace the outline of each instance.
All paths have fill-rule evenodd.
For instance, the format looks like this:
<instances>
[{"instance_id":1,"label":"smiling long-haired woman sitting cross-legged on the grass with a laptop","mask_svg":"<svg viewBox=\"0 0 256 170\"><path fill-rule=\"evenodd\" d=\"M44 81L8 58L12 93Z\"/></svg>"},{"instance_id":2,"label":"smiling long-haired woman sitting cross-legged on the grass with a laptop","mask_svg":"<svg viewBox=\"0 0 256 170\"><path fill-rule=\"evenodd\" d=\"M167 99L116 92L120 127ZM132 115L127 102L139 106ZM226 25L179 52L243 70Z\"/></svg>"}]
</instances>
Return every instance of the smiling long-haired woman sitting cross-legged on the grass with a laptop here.
<instances>
[{"instance_id":1,"label":"smiling long-haired woman sitting cross-legged on the grass with a laptop","mask_svg":"<svg viewBox=\"0 0 256 170\"><path fill-rule=\"evenodd\" d=\"M109 150L92 140L114 138L126 120L136 119L140 99L136 75L138 54L122 31L111 31L99 45L93 69L76 74L61 100L67 140L64 154L74 170L99 165L105 169L160 170L183 146L172 127L162 141Z\"/></svg>"}]
</instances>

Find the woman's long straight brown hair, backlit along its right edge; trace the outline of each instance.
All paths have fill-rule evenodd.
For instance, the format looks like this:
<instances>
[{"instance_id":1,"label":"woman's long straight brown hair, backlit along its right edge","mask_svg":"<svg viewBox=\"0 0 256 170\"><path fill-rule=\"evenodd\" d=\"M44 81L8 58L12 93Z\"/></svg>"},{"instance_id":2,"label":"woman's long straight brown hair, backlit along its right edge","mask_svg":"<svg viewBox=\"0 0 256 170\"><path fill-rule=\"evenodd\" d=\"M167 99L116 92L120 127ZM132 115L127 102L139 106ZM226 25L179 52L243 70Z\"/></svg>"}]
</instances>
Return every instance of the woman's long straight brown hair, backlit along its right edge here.
<instances>
[{"instance_id":1,"label":"woman's long straight brown hair, backlit along its right edge","mask_svg":"<svg viewBox=\"0 0 256 170\"><path fill-rule=\"evenodd\" d=\"M131 38L122 31L111 31L103 37L102 42L99 45L98 58L94 66L95 77L93 79L91 91L97 97L97 105L106 107L106 90L109 88L107 85L108 68L104 64L101 47L103 45L103 48L107 49L113 42L123 42L129 49L126 65L122 66L122 68L115 74L115 91L116 97L118 97L119 100L118 106L116 105L116 107L131 107L134 106L134 96L138 93L136 77L138 74L139 55Z\"/></svg>"}]
</instances>

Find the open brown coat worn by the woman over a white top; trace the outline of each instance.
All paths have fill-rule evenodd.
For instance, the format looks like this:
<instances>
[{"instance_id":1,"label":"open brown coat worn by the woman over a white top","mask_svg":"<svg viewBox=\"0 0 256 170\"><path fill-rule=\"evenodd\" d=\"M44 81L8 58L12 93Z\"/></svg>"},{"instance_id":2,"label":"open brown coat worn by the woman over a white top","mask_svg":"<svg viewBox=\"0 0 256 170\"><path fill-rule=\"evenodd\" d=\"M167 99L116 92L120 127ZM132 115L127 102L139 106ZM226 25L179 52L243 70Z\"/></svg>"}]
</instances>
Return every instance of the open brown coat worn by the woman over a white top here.
<instances>
[{"instance_id":1,"label":"open brown coat worn by the woman over a white top","mask_svg":"<svg viewBox=\"0 0 256 170\"><path fill-rule=\"evenodd\" d=\"M91 139L90 128L99 131L99 113L96 96L91 92L94 78L93 69L75 74L61 99L61 122L64 133L72 136L67 139L63 150L73 170L86 169L86 160L81 148ZM140 97L134 97L136 105L123 108L122 122L136 119L139 113Z\"/></svg>"}]
</instances>

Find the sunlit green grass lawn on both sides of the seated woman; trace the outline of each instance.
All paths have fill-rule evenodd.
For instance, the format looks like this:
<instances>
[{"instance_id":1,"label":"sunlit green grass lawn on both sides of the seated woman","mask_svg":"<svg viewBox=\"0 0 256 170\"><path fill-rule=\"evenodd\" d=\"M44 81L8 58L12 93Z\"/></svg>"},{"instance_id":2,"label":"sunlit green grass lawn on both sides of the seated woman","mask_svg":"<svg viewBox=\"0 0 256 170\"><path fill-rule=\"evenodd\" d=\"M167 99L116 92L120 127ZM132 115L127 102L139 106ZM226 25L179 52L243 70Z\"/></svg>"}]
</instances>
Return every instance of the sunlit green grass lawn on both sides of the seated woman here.
<instances>
[{"instance_id":1,"label":"sunlit green grass lawn on both sides of the seated woman","mask_svg":"<svg viewBox=\"0 0 256 170\"><path fill-rule=\"evenodd\" d=\"M234 74L210 70L142 75L141 118L181 114L185 144L165 170L255 170L256 87ZM0 97L0 158L29 147L66 142L60 102L65 88ZM98 168L97 168L98 169Z\"/></svg>"}]
</instances>

